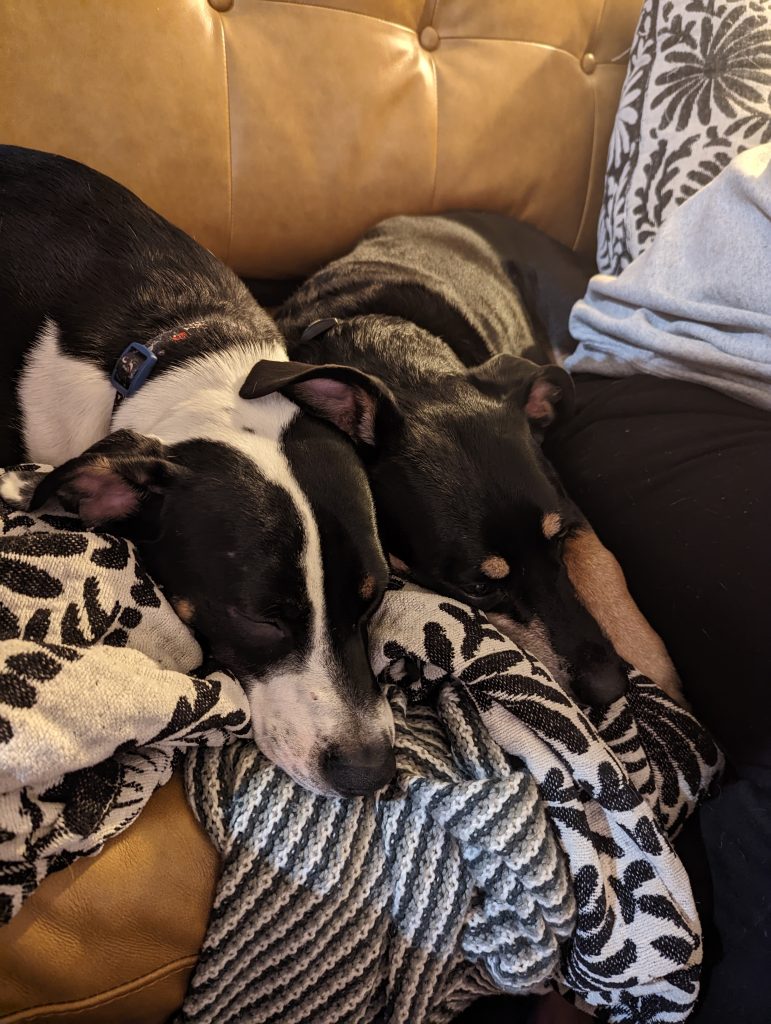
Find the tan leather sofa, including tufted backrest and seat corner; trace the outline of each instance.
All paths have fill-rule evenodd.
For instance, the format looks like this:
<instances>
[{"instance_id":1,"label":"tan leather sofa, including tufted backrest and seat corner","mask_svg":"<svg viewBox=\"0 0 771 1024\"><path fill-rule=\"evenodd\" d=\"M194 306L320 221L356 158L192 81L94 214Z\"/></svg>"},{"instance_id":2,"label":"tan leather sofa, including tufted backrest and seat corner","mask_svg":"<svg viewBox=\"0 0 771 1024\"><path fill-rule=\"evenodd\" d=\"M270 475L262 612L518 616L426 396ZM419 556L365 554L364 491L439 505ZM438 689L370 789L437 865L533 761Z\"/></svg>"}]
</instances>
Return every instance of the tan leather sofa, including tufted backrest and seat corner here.
<instances>
[{"instance_id":1,"label":"tan leather sofa, including tufted backrest and seat corner","mask_svg":"<svg viewBox=\"0 0 771 1024\"><path fill-rule=\"evenodd\" d=\"M640 2L3 0L0 141L112 175L245 275L461 207L590 251ZM166 1020L217 868L175 779L0 930L0 1022Z\"/></svg>"}]
</instances>

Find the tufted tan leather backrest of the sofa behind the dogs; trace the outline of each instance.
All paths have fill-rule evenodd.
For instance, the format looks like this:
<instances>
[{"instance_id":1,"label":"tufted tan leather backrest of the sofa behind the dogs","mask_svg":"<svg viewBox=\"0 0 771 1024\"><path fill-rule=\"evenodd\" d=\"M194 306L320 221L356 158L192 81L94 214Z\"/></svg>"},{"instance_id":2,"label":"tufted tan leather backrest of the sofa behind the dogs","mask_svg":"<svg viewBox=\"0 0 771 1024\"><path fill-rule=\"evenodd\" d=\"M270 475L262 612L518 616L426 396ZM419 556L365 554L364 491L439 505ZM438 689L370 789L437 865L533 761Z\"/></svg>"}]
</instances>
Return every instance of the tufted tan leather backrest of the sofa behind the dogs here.
<instances>
[{"instance_id":1,"label":"tufted tan leather backrest of the sofa behind the dogs","mask_svg":"<svg viewBox=\"0 0 771 1024\"><path fill-rule=\"evenodd\" d=\"M239 272L396 212L592 250L640 0L3 0L0 140L136 191Z\"/></svg>"}]
</instances>

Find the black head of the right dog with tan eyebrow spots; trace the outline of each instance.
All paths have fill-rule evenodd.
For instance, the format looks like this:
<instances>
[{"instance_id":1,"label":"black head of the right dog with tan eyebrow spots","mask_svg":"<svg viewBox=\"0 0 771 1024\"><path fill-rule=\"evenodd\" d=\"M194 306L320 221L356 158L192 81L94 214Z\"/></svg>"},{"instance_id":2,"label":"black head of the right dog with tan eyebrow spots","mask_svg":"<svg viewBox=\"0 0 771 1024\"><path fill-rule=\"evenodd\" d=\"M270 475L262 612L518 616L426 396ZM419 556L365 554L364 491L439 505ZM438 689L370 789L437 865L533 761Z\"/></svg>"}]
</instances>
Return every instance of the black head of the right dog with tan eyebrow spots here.
<instances>
[{"instance_id":1,"label":"black head of the right dog with tan eyebrow spots","mask_svg":"<svg viewBox=\"0 0 771 1024\"><path fill-rule=\"evenodd\" d=\"M292 368L287 393L313 408L301 387L307 367L284 372ZM484 610L580 699L615 699L627 686L623 663L579 601L562 559L581 517L538 438L570 399L567 374L499 355L471 371L396 374L387 383L359 374L361 412L342 425L369 444L394 568Z\"/></svg>"}]
</instances>

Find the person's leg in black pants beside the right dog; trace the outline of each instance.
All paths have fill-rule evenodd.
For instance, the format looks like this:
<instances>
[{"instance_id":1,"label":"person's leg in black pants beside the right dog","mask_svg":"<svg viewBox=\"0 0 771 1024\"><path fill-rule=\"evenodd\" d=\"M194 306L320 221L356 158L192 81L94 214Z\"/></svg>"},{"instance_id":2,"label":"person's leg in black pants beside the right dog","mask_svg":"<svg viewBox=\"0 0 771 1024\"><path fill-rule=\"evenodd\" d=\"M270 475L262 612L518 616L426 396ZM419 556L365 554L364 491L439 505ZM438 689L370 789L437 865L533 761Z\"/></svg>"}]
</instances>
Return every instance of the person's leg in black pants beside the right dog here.
<instances>
[{"instance_id":1,"label":"person's leg in black pants beside the right dog","mask_svg":"<svg viewBox=\"0 0 771 1024\"><path fill-rule=\"evenodd\" d=\"M681 846L723 958L692 1020L771 1020L771 415L693 384L576 378L546 453L729 758ZM709 872L698 867L703 841ZM708 963L720 950L705 921ZM712 948L710 948L712 946Z\"/></svg>"}]
</instances>

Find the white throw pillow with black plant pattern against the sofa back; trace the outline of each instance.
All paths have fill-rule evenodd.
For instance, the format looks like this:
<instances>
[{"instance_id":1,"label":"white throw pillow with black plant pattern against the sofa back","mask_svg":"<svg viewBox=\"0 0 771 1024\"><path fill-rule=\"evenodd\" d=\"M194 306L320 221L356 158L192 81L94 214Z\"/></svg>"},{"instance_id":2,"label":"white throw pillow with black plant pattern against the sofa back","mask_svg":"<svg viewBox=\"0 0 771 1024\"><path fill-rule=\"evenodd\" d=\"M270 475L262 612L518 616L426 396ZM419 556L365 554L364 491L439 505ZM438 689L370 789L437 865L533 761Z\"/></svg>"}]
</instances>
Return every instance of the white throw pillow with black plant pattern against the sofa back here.
<instances>
[{"instance_id":1,"label":"white throw pillow with black plant pattern against the sofa back","mask_svg":"<svg viewBox=\"0 0 771 1024\"><path fill-rule=\"evenodd\" d=\"M617 274L739 153L771 141L771 0L645 0L610 139L597 263Z\"/></svg>"}]
</instances>

